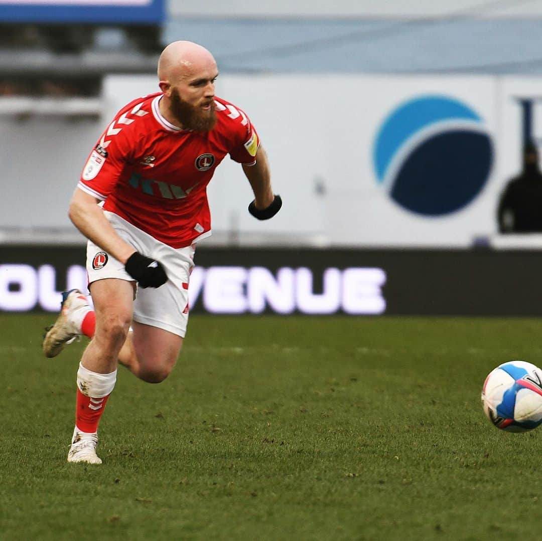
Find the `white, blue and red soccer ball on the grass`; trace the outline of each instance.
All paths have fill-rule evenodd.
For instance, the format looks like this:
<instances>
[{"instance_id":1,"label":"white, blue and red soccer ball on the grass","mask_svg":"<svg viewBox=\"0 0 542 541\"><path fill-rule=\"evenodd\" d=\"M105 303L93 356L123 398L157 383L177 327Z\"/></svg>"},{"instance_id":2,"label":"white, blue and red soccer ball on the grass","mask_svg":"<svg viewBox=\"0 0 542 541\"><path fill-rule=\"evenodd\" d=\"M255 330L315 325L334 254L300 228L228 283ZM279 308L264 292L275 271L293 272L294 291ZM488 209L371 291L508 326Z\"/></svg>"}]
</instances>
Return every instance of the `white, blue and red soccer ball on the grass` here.
<instances>
[{"instance_id":1,"label":"white, blue and red soccer ball on the grass","mask_svg":"<svg viewBox=\"0 0 542 541\"><path fill-rule=\"evenodd\" d=\"M542 423L542 370L525 361L500 364L486 377L482 405L488 419L507 432Z\"/></svg>"}]
</instances>

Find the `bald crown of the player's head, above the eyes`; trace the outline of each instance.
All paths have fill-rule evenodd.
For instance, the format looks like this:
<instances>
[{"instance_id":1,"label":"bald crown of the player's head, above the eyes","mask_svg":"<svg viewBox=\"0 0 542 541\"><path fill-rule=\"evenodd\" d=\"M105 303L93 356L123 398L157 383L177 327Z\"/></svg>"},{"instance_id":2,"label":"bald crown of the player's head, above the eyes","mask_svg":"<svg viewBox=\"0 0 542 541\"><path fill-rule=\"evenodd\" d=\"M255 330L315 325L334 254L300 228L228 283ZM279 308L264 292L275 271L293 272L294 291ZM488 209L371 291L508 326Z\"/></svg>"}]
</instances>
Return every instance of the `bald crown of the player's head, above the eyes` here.
<instances>
[{"instance_id":1,"label":"bald crown of the player's head, above the eyes","mask_svg":"<svg viewBox=\"0 0 542 541\"><path fill-rule=\"evenodd\" d=\"M211 53L191 41L174 41L167 45L158 60L158 79L175 83L198 71L215 70Z\"/></svg>"}]
</instances>

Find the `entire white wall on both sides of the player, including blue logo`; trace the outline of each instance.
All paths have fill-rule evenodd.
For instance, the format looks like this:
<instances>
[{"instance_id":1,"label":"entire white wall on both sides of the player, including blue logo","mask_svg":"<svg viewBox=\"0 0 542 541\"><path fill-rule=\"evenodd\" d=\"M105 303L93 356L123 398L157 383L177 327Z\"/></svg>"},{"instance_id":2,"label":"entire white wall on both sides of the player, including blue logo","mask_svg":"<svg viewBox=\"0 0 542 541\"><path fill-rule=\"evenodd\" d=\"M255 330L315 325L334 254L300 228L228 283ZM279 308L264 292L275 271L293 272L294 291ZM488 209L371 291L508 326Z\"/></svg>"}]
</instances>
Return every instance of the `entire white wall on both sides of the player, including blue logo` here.
<instances>
[{"instance_id":1,"label":"entire white wall on both sides of the player, including blue logo","mask_svg":"<svg viewBox=\"0 0 542 541\"><path fill-rule=\"evenodd\" d=\"M18 167L5 171L0 226L70 226L67 202L99 134L158 82L108 76L103 88L92 125L0 122L0 160ZM225 159L208 190L215 239L470 246L498 231L499 195L521 168L525 138L542 146L542 79L222 75L216 93L250 116L284 204L272 220L251 217L248 181Z\"/></svg>"}]
</instances>

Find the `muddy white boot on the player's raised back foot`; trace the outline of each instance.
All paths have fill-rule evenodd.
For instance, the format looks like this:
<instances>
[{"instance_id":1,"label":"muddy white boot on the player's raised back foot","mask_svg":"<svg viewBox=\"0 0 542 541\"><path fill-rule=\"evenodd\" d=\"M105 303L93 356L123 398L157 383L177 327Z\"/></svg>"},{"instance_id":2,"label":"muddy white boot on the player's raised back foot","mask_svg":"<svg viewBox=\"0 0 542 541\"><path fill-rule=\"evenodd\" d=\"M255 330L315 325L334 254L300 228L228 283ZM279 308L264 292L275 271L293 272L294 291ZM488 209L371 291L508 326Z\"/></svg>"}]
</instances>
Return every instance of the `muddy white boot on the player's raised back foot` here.
<instances>
[{"instance_id":1,"label":"muddy white boot on the player's raised back foot","mask_svg":"<svg viewBox=\"0 0 542 541\"><path fill-rule=\"evenodd\" d=\"M88 306L88 301L79 289L63 292L59 317L54 325L45 329L43 336L42 349L46 357L56 357L66 344L71 344L80 336L80 330L70 321L69 315L85 306Z\"/></svg>"}]
</instances>

